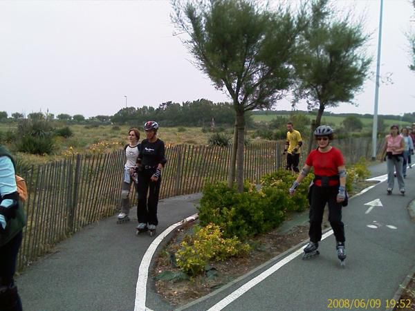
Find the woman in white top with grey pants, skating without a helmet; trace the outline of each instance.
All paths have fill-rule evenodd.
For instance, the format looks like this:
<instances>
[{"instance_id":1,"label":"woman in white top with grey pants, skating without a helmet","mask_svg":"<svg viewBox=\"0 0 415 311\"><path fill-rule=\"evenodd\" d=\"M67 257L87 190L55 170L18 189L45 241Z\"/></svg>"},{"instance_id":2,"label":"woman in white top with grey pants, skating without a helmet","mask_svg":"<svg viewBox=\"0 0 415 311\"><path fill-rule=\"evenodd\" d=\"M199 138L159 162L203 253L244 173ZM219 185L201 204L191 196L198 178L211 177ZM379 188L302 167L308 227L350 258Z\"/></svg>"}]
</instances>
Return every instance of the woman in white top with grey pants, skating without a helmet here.
<instances>
[{"instance_id":1,"label":"woman in white top with grey pants, skating without a helmet","mask_svg":"<svg viewBox=\"0 0 415 311\"><path fill-rule=\"evenodd\" d=\"M140 132L138 129L133 128L128 131L128 140L129 144L126 144L124 147L125 158L127 161L124 164L124 175L122 176L121 184L121 211L118 214L117 223L125 223L129 221L129 192L131 190L131 185L133 184L133 174L134 169L136 168L138 155L140 154L140 144L138 140L140 139Z\"/></svg>"}]
</instances>

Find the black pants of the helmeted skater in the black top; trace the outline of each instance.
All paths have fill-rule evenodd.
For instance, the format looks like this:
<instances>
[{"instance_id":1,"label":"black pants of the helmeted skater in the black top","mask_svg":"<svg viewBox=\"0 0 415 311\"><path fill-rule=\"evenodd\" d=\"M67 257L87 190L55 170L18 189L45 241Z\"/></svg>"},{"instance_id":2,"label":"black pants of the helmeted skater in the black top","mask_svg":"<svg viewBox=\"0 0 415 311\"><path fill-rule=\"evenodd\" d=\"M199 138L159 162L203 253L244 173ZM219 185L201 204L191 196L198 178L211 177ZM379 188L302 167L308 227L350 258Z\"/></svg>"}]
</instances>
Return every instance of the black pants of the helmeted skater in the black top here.
<instances>
[{"instance_id":1,"label":"black pants of the helmeted skater in the black top","mask_svg":"<svg viewBox=\"0 0 415 311\"><path fill-rule=\"evenodd\" d=\"M138 223L148 223L149 225L158 225L157 205L158 194L160 193L161 176L156 182L151 181L151 176L156 169L143 169L138 172L137 182L137 218ZM147 199L148 193L148 199Z\"/></svg>"}]
</instances>

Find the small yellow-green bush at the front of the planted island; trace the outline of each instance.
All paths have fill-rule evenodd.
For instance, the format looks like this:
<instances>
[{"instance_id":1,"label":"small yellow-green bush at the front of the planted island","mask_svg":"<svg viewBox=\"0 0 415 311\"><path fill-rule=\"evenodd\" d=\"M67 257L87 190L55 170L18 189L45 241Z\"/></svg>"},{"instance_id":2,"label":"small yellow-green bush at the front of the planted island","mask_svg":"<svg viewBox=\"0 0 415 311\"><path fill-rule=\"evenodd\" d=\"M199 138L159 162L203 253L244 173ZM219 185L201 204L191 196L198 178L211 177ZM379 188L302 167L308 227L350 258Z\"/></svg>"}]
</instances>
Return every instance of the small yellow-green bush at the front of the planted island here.
<instances>
[{"instance_id":1,"label":"small yellow-green bush at the front of the planted island","mask_svg":"<svg viewBox=\"0 0 415 311\"><path fill-rule=\"evenodd\" d=\"M185 238L176 253L176 263L183 272L196 275L204 272L210 261L221 261L249 251L248 244L241 243L237 237L223 238L220 227L210 223Z\"/></svg>"}]
</instances>

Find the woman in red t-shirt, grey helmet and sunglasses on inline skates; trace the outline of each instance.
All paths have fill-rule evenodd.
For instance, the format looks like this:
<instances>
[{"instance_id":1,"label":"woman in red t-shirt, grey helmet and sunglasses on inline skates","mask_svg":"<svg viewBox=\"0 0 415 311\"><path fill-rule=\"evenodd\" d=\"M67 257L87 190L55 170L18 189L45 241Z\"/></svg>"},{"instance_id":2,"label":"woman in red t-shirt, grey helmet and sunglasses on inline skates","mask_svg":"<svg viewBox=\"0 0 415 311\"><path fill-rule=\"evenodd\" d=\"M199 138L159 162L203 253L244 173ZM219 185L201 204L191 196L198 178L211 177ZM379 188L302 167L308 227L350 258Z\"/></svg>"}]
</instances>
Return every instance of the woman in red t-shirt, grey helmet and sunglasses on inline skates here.
<instances>
[{"instance_id":1,"label":"woman in red t-shirt, grey helmet and sunglasses on inline skates","mask_svg":"<svg viewBox=\"0 0 415 311\"><path fill-rule=\"evenodd\" d=\"M318 242L322 238L322 219L326 203L329 205L329 222L333 229L338 258L342 265L346 258L344 251L344 224L342 223L342 203L346 194L346 168L342 153L330 145L333 140L333 129L330 126L318 126L314 131L318 148L311 151L306 158L306 164L293 186L290 194L295 193L299 182L307 176L311 167L314 168L315 178L311 186L310 229L308 236L310 242L304 248L303 258L316 254Z\"/></svg>"}]
</instances>

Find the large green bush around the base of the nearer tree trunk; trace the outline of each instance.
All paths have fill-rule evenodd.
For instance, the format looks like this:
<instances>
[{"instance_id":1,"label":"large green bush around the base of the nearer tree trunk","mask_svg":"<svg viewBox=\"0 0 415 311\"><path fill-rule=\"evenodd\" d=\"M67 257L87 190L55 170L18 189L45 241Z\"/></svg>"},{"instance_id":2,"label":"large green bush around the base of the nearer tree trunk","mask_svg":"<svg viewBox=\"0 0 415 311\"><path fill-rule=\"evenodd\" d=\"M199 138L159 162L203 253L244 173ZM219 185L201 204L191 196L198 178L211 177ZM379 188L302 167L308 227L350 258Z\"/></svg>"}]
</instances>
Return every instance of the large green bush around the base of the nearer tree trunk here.
<instances>
[{"instance_id":1,"label":"large green bush around the base of the nearer tree trunk","mask_svg":"<svg viewBox=\"0 0 415 311\"><path fill-rule=\"evenodd\" d=\"M228 188L225 182L205 185L199 207L201 225L214 223L223 236L244 240L277 227L285 218L288 193L268 187L261 191L246 183L243 192Z\"/></svg>"}]
</instances>

